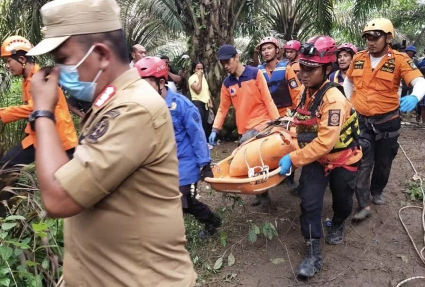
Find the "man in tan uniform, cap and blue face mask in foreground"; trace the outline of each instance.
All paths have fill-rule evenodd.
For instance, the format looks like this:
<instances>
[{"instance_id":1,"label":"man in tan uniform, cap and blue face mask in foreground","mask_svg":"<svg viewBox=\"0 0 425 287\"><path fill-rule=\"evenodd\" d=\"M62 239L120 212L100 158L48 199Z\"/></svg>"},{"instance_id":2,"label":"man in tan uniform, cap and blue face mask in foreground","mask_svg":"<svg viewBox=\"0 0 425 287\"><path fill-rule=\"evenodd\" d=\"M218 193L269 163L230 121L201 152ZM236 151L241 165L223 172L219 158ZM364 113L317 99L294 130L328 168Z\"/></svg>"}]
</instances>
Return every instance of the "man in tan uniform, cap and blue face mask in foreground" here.
<instances>
[{"instance_id":1,"label":"man in tan uniform, cap and blue face mask in foreground","mask_svg":"<svg viewBox=\"0 0 425 287\"><path fill-rule=\"evenodd\" d=\"M177 158L165 101L129 69L115 0L53 0L41 8L45 39L59 68L33 76L41 199L64 221L62 286L191 287L184 248ZM74 158L54 117L57 81L92 102Z\"/></svg>"}]
</instances>

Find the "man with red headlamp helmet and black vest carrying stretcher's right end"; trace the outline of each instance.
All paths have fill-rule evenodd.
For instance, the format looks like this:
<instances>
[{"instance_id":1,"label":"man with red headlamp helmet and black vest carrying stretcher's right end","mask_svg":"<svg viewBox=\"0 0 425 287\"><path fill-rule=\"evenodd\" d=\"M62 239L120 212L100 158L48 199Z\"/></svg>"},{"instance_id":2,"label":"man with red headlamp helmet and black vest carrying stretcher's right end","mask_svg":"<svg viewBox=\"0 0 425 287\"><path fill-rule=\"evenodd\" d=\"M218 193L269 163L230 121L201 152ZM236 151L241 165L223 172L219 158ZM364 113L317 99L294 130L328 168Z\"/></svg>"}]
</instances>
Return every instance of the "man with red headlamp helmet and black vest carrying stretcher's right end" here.
<instances>
[{"instance_id":1,"label":"man with red headlamp helmet and black vest carrying stretcher's right end","mask_svg":"<svg viewBox=\"0 0 425 287\"><path fill-rule=\"evenodd\" d=\"M301 167L298 196L301 199L301 234L306 256L296 272L313 276L322 267L320 237L323 194L329 183L333 218L325 240L343 241L344 221L351 213L355 172L361 158L355 110L341 92L342 87L327 80L336 59L336 43L329 36L315 36L301 46L299 56L301 95L294 124L300 148L279 161L280 173Z\"/></svg>"}]
</instances>

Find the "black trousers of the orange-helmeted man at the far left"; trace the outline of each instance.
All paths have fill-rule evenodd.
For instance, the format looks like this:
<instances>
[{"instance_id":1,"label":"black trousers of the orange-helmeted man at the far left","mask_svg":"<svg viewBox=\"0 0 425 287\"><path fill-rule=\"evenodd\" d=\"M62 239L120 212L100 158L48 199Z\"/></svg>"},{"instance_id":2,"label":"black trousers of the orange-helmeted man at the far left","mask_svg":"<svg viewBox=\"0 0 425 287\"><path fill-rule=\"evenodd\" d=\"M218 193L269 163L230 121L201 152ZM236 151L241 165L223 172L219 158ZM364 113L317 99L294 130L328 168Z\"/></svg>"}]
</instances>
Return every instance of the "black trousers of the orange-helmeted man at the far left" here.
<instances>
[{"instance_id":1,"label":"black trousers of the orange-helmeted man at the far left","mask_svg":"<svg viewBox=\"0 0 425 287\"><path fill-rule=\"evenodd\" d=\"M69 159L73 157L75 148L70 148L66 150L66 155ZM34 145L30 145L26 148L22 148L22 145L19 143L7 151L0 159L0 166L5 165L5 168L11 167L16 164L29 164L35 160L35 148Z\"/></svg>"}]
</instances>

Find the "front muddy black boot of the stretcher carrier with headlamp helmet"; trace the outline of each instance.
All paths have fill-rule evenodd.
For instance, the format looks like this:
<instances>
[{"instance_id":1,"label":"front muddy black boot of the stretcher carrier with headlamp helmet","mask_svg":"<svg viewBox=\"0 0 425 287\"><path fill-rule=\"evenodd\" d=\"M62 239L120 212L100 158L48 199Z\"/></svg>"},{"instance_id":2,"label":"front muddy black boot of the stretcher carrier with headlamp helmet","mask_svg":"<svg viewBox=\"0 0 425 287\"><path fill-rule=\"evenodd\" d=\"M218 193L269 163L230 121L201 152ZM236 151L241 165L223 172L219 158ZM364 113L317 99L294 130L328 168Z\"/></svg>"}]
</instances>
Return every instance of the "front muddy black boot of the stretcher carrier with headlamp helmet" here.
<instances>
[{"instance_id":1,"label":"front muddy black boot of the stretcher carrier with headlamp helmet","mask_svg":"<svg viewBox=\"0 0 425 287\"><path fill-rule=\"evenodd\" d=\"M306 255L296 268L296 274L300 277L312 277L321 270L320 238L304 239L304 242Z\"/></svg>"}]
</instances>

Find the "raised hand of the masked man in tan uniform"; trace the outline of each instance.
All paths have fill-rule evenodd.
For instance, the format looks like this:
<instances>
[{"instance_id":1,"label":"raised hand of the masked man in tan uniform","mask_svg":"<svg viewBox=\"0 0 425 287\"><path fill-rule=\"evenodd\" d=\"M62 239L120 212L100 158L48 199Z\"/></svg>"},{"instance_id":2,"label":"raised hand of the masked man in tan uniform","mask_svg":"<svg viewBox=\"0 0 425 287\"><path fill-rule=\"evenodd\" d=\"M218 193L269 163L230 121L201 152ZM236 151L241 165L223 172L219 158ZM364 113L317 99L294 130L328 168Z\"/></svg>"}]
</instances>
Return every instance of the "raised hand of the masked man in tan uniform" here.
<instances>
[{"instance_id":1,"label":"raised hand of the masked man in tan uniform","mask_svg":"<svg viewBox=\"0 0 425 287\"><path fill-rule=\"evenodd\" d=\"M49 73L48 73L49 72ZM34 110L45 109L54 112L57 104L57 77L59 69L41 68L31 78L30 92L34 101Z\"/></svg>"}]
</instances>

